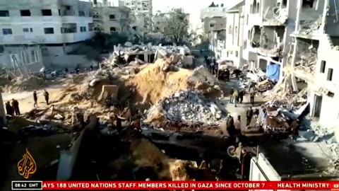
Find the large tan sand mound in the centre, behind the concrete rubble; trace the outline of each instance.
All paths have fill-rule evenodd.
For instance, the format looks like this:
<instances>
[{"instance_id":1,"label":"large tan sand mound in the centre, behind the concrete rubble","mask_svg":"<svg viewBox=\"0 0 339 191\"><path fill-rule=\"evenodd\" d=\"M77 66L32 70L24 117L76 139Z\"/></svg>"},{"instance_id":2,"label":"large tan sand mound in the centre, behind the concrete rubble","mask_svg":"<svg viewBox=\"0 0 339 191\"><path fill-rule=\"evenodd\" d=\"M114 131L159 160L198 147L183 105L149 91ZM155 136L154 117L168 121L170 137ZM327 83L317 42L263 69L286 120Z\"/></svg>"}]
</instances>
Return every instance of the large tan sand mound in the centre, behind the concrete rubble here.
<instances>
[{"instance_id":1,"label":"large tan sand mound in the centre, behind the concrete rubble","mask_svg":"<svg viewBox=\"0 0 339 191\"><path fill-rule=\"evenodd\" d=\"M138 74L126 79L126 86L135 88L132 103L154 105L173 93L188 89L201 90L204 93L220 95L215 88L215 78L203 67L194 71L177 68L177 71L163 71L170 61L158 59L155 64L148 64ZM213 80L214 79L214 80Z\"/></svg>"}]
</instances>

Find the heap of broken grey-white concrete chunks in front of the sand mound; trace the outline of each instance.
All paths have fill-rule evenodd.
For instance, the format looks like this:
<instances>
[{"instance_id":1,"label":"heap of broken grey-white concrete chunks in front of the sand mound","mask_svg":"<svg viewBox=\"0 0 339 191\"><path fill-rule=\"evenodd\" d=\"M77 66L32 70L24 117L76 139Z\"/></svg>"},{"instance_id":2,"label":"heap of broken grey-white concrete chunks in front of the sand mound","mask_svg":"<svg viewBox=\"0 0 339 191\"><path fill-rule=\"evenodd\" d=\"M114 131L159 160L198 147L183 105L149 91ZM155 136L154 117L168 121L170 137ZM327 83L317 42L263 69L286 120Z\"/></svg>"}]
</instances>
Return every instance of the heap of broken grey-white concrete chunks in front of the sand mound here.
<instances>
[{"instance_id":1,"label":"heap of broken grey-white concrete chunks in front of the sand mound","mask_svg":"<svg viewBox=\"0 0 339 191\"><path fill-rule=\"evenodd\" d=\"M172 122L218 124L222 112L199 91L179 91L161 100L148 110L148 119L162 113L165 120Z\"/></svg>"}]
</instances>

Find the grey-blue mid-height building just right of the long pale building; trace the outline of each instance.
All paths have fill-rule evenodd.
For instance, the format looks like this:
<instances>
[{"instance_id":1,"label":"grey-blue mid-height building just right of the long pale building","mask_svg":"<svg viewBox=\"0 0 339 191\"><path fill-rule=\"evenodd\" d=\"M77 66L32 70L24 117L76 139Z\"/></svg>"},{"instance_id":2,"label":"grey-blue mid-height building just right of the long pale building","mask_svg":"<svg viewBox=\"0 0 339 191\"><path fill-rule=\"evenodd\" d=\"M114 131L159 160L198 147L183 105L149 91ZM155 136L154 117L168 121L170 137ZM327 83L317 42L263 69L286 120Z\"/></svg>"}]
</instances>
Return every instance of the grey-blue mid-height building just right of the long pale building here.
<instances>
[{"instance_id":1,"label":"grey-blue mid-height building just right of the long pale building","mask_svg":"<svg viewBox=\"0 0 339 191\"><path fill-rule=\"evenodd\" d=\"M131 9L126 6L100 6L93 8L95 32L124 33L129 35Z\"/></svg>"}]
</instances>

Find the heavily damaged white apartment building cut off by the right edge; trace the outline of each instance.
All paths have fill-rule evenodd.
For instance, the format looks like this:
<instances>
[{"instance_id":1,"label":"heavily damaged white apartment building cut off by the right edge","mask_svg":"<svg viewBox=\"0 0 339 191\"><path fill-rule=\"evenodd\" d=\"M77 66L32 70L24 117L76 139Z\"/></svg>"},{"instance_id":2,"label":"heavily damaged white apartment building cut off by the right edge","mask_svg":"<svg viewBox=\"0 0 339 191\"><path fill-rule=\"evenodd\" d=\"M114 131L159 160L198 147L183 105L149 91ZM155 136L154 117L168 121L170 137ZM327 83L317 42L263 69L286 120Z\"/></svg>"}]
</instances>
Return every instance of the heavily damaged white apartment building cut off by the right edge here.
<instances>
[{"instance_id":1,"label":"heavily damaged white apartment building cut off by the right edge","mask_svg":"<svg viewBox=\"0 0 339 191\"><path fill-rule=\"evenodd\" d=\"M338 125L338 0L297 1L293 50L286 71L294 91L307 85L310 114L328 129Z\"/></svg>"}]
</instances>

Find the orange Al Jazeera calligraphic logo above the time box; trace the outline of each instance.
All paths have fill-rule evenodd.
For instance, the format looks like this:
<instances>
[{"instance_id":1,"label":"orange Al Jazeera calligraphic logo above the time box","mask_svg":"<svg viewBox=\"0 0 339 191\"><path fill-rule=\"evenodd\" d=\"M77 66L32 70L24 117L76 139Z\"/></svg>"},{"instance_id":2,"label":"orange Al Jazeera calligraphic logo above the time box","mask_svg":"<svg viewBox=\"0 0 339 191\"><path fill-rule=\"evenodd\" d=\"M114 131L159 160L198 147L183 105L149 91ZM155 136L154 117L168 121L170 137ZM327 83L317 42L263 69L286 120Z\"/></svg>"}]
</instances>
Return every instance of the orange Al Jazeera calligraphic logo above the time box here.
<instances>
[{"instance_id":1,"label":"orange Al Jazeera calligraphic logo above the time box","mask_svg":"<svg viewBox=\"0 0 339 191\"><path fill-rule=\"evenodd\" d=\"M18 173L23 176L23 178L28 179L37 171L37 163L35 163L34 158L26 149L23 158L18 162Z\"/></svg>"}]
</instances>

